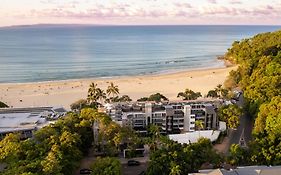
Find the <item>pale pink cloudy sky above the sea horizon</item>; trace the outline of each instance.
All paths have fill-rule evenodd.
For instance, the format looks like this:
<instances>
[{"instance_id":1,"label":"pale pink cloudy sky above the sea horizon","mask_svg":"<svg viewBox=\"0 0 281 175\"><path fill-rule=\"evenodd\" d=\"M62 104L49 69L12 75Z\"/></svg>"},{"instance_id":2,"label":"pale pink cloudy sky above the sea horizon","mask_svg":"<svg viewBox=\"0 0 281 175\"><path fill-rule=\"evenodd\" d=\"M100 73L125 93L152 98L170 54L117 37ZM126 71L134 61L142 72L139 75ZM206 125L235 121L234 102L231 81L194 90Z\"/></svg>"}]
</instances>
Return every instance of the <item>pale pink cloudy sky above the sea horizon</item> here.
<instances>
[{"instance_id":1,"label":"pale pink cloudy sky above the sea horizon","mask_svg":"<svg viewBox=\"0 0 281 175\"><path fill-rule=\"evenodd\" d=\"M281 0L0 0L0 26L281 25Z\"/></svg>"}]
</instances>

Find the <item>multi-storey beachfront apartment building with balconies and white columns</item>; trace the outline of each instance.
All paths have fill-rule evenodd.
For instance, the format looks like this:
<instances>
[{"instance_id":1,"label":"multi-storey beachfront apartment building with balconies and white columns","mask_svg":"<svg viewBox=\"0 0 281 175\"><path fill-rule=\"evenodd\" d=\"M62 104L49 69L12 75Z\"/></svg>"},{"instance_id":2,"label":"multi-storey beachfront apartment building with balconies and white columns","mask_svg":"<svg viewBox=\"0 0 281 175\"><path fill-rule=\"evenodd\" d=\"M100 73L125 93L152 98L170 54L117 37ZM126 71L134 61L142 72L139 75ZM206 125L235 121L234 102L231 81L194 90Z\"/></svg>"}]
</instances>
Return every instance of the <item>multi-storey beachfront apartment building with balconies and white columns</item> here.
<instances>
[{"instance_id":1,"label":"multi-storey beachfront apartment building with balconies and white columns","mask_svg":"<svg viewBox=\"0 0 281 175\"><path fill-rule=\"evenodd\" d=\"M117 123L136 131L147 132L149 124L158 125L163 133L195 131L195 121L203 130L217 129L216 105L199 102L155 102L106 104L105 111Z\"/></svg>"}]
</instances>

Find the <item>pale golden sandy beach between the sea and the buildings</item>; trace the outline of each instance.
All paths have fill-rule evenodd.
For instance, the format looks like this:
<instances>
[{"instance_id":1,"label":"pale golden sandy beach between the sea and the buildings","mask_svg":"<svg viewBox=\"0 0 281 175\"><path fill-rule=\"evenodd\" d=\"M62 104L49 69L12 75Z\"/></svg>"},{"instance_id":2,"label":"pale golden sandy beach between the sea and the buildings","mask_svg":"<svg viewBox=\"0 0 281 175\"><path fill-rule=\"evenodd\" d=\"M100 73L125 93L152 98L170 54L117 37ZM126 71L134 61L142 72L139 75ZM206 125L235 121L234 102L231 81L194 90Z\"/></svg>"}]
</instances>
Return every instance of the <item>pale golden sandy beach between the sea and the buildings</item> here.
<instances>
[{"instance_id":1,"label":"pale golden sandy beach between the sea and the buildings","mask_svg":"<svg viewBox=\"0 0 281 175\"><path fill-rule=\"evenodd\" d=\"M178 92L185 88L206 95L218 84L223 84L231 70L237 67L183 71L178 73L130 76L108 79L81 79L40 83L0 84L0 101L13 107L63 106L86 98L89 84L95 82L106 90L109 82L118 85L120 95L129 95L133 100L162 93L170 100L179 100Z\"/></svg>"}]
</instances>

